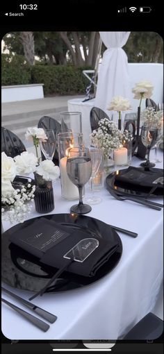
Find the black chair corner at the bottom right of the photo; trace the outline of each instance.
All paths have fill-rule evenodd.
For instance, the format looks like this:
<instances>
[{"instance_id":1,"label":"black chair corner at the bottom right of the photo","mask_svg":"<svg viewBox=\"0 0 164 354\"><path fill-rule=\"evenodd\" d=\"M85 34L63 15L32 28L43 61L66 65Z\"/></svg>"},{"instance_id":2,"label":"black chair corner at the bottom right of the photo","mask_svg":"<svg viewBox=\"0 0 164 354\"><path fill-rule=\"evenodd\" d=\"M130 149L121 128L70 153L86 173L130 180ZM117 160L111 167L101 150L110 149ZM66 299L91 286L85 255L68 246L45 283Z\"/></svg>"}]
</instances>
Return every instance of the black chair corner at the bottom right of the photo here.
<instances>
[{"instance_id":1,"label":"black chair corner at the bottom right of the photo","mask_svg":"<svg viewBox=\"0 0 164 354\"><path fill-rule=\"evenodd\" d=\"M163 321L149 312L125 336L124 340L153 340L163 334Z\"/></svg>"}]
</instances>

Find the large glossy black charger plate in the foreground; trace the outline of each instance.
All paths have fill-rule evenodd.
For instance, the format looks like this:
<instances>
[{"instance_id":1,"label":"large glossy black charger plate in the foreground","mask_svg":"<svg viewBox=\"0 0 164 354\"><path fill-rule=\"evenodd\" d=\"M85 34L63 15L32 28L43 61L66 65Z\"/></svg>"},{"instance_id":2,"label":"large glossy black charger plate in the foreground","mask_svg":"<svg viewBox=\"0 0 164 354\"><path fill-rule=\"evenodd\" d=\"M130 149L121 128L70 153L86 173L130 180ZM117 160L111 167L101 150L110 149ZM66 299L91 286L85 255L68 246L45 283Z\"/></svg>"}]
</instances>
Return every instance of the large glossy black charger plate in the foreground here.
<instances>
[{"instance_id":1,"label":"large glossy black charger plate in the foreground","mask_svg":"<svg viewBox=\"0 0 164 354\"><path fill-rule=\"evenodd\" d=\"M47 289L47 292L65 292L95 283L112 271L120 261L122 256L122 241L120 236L115 230L110 228L108 224L92 217L77 214L49 214L44 215L44 218L56 221L60 224L83 225L91 230L99 231L101 237L104 239L113 237L119 244L117 251L115 251L108 262L97 271L95 276L84 277L65 271L62 276L58 278L55 287L52 285ZM36 219L40 219L40 217L26 220L23 224L13 226L3 233L1 240L1 280L12 287L29 290L31 292L38 292L42 289L42 287L47 284L47 280L49 280L58 269L43 266L43 264L40 264L38 258L31 256L28 252L19 248L19 246L11 244L9 239L10 236L18 230L22 229L23 232L23 229L33 224Z\"/></svg>"}]
</instances>

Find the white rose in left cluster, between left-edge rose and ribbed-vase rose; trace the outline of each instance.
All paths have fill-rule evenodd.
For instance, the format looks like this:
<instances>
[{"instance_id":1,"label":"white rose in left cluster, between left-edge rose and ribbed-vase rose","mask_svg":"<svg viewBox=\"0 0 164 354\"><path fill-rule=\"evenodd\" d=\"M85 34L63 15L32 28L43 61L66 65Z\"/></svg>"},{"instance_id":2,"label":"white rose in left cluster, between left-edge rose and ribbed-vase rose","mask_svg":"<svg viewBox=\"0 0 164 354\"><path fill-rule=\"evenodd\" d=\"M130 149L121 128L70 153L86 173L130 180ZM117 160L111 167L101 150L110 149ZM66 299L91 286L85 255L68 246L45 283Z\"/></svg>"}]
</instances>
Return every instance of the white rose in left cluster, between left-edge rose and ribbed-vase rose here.
<instances>
[{"instance_id":1,"label":"white rose in left cluster, between left-edge rose and ribbed-vase rose","mask_svg":"<svg viewBox=\"0 0 164 354\"><path fill-rule=\"evenodd\" d=\"M33 153L24 151L20 155L15 156L15 165L17 174L31 174L35 171L38 159Z\"/></svg>"}]
</instances>

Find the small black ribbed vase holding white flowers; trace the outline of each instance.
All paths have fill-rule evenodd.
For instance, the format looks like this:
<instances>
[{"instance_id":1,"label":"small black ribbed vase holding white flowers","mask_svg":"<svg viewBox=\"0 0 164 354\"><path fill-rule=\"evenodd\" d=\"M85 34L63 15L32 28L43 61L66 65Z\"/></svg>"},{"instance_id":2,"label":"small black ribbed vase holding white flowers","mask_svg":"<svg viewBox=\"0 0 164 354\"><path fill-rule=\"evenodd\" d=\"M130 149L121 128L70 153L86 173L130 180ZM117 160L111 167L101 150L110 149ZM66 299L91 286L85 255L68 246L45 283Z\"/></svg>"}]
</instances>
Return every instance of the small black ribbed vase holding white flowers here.
<instances>
[{"instance_id":1,"label":"small black ribbed vase holding white flowers","mask_svg":"<svg viewBox=\"0 0 164 354\"><path fill-rule=\"evenodd\" d=\"M44 180L42 176L35 174L35 210L42 214L54 210L54 192L51 180Z\"/></svg>"}]
</instances>

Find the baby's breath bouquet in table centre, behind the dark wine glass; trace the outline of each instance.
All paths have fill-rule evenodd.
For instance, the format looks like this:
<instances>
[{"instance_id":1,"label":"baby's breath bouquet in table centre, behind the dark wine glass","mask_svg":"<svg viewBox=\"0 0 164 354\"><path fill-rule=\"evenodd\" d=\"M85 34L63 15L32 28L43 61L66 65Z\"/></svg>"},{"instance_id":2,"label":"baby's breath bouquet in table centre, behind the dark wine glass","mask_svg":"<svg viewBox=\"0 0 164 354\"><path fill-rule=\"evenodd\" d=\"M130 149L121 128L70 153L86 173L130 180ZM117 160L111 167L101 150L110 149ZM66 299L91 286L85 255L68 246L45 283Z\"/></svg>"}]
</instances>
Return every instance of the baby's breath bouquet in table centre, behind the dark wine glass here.
<instances>
[{"instance_id":1,"label":"baby's breath bouquet in table centre, behind the dark wine glass","mask_svg":"<svg viewBox=\"0 0 164 354\"><path fill-rule=\"evenodd\" d=\"M104 158L108 158L113 150L120 148L123 141L132 140L127 130L122 133L115 123L107 118L99 121L99 128L93 130L90 137L92 144L103 151Z\"/></svg>"}]
</instances>

